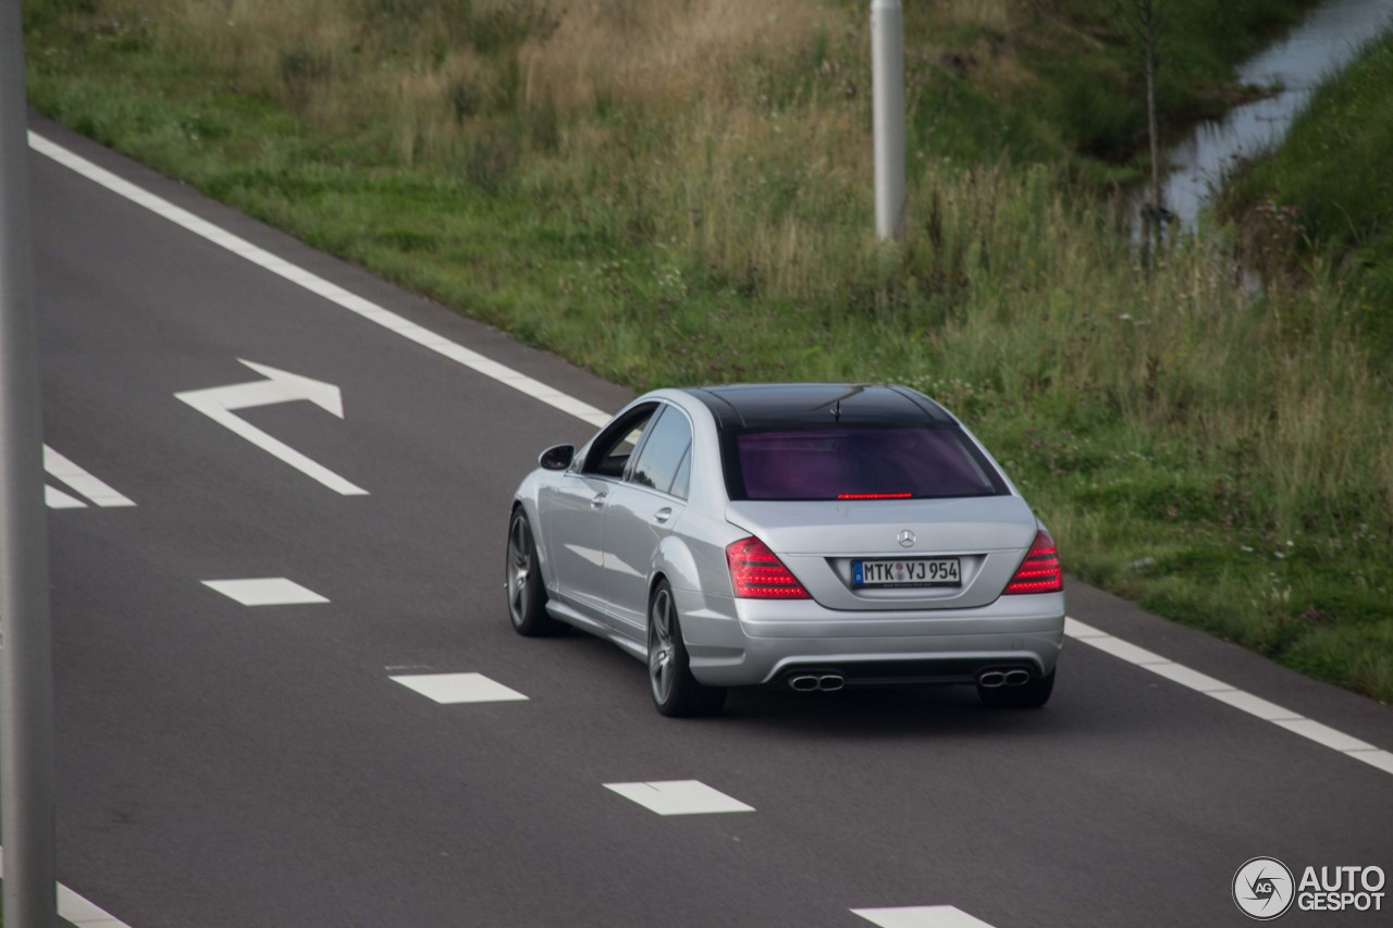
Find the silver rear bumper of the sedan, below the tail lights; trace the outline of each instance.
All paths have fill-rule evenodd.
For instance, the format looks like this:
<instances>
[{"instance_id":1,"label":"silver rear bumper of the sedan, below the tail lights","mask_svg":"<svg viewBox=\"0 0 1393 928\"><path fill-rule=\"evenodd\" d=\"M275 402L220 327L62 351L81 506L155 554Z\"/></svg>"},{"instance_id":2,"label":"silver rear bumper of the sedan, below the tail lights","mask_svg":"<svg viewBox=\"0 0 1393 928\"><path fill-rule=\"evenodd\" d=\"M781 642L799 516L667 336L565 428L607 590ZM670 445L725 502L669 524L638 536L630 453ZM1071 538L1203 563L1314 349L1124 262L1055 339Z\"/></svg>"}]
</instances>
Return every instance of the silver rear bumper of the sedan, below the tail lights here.
<instances>
[{"instance_id":1,"label":"silver rear bumper of the sedan, below the tail lights","mask_svg":"<svg viewBox=\"0 0 1393 928\"><path fill-rule=\"evenodd\" d=\"M758 686L809 669L841 673L851 686L971 683L990 667L1048 674L1064 640L1063 594L933 612L836 612L812 601L705 606L685 612L683 624L692 674L709 686Z\"/></svg>"}]
</instances>

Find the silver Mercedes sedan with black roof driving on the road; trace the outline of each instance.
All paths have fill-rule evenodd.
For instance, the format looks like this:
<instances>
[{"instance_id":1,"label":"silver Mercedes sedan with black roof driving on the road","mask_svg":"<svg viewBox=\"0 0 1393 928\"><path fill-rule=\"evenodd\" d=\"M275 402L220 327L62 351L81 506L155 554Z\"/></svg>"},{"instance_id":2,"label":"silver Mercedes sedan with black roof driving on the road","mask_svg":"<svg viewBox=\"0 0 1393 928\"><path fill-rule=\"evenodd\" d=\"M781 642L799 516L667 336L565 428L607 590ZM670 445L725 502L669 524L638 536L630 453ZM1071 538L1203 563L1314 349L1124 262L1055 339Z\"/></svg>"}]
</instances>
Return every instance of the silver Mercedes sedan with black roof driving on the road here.
<instances>
[{"instance_id":1,"label":"silver Mercedes sedan with black roof driving on the road","mask_svg":"<svg viewBox=\"0 0 1393 928\"><path fill-rule=\"evenodd\" d=\"M976 686L1043 705L1064 631L1049 532L971 432L901 386L655 390L513 499L524 635L582 628L648 663L663 715L726 688Z\"/></svg>"}]
</instances>

